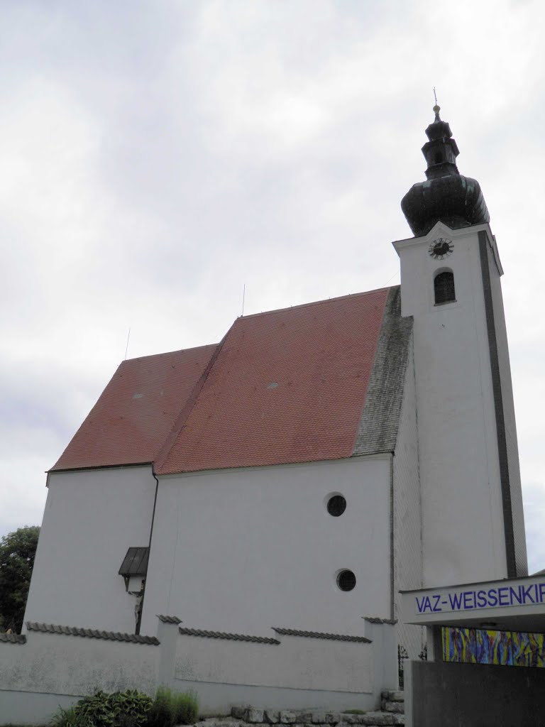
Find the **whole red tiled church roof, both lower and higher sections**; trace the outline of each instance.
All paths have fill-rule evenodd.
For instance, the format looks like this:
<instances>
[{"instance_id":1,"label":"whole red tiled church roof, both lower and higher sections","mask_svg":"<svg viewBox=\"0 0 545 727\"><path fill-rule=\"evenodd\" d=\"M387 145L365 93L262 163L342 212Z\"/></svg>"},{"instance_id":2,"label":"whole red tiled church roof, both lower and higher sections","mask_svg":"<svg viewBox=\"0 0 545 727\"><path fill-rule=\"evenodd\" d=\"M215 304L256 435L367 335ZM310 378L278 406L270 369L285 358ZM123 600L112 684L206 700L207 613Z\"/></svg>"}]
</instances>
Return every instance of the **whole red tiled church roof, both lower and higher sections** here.
<instances>
[{"instance_id":1,"label":"whole red tiled church roof, both lower and higher sections","mask_svg":"<svg viewBox=\"0 0 545 727\"><path fill-rule=\"evenodd\" d=\"M390 291L237 318L219 345L124 361L52 470L350 457Z\"/></svg>"}]
</instances>

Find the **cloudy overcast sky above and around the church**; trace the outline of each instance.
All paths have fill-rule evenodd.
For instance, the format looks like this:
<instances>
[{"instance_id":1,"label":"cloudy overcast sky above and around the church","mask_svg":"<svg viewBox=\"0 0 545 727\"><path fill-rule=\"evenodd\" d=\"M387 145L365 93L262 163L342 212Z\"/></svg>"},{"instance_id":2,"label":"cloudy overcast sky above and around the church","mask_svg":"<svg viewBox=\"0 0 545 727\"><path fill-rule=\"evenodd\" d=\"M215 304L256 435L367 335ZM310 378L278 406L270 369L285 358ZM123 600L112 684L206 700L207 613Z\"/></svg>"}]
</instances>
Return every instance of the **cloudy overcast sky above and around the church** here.
<instances>
[{"instance_id":1,"label":"cloudy overcast sky above and around the church","mask_svg":"<svg viewBox=\"0 0 545 727\"><path fill-rule=\"evenodd\" d=\"M125 356L399 282L432 88L504 265L545 567L545 3L0 1L0 534Z\"/></svg>"}]
</instances>

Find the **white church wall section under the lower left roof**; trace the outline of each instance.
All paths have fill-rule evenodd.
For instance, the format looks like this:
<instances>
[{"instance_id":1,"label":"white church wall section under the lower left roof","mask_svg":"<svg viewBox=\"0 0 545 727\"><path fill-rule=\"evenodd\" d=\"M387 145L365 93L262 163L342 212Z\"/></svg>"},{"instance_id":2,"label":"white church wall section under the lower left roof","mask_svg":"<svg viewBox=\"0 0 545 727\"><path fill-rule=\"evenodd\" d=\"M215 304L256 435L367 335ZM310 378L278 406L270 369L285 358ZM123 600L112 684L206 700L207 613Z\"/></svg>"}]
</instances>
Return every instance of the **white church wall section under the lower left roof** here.
<instances>
[{"instance_id":1,"label":"white church wall section under the lower left roof","mask_svg":"<svg viewBox=\"0 0 545 727\"><path fill-rule=\"evenodd\" d=\"M134 633L118 570L129 547L149 543L155 488L148 466L49 475L25 622Z\"/></svg>"}]
</instances>

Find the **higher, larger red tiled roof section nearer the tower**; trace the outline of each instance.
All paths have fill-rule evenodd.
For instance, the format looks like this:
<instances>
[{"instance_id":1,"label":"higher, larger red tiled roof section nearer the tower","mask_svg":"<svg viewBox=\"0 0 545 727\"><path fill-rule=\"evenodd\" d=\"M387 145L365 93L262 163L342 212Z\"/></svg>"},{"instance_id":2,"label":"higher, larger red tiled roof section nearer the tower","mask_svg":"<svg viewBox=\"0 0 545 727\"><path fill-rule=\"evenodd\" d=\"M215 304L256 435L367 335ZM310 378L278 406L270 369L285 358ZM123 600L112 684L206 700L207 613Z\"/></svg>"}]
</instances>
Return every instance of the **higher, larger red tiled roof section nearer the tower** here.
<instances>
[{"instance_id":1,"label":"higher, larger red tiled roof section nearer the tower","mask_svg":"<svg viewBox=\"0 0 545 727\"><path fill-rule=\"evenodd\" d=\"M388 292L238 318L157 473L350 457Z\"/></svg>"}]
</instances>

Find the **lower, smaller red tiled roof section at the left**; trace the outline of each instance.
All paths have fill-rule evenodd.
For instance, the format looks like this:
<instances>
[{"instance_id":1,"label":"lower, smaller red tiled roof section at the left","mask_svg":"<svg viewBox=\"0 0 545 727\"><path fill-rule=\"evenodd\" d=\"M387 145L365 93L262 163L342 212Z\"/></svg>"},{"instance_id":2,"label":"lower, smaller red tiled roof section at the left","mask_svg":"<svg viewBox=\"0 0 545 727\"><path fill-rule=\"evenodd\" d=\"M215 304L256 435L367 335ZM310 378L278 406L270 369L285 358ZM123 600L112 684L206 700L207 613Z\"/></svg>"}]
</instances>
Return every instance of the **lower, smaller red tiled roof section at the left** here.
<instances>
[{"instance_id":1,"label":"lower, smaller red tiled roof section at the left","mask_svg":"<svg viewBox=\"0 0 545 727\"><path fill-rule=\"evenodd\" d=\"M52 469L153 462L216 349L123 361Z\"/></svg>"}]
</instances>

